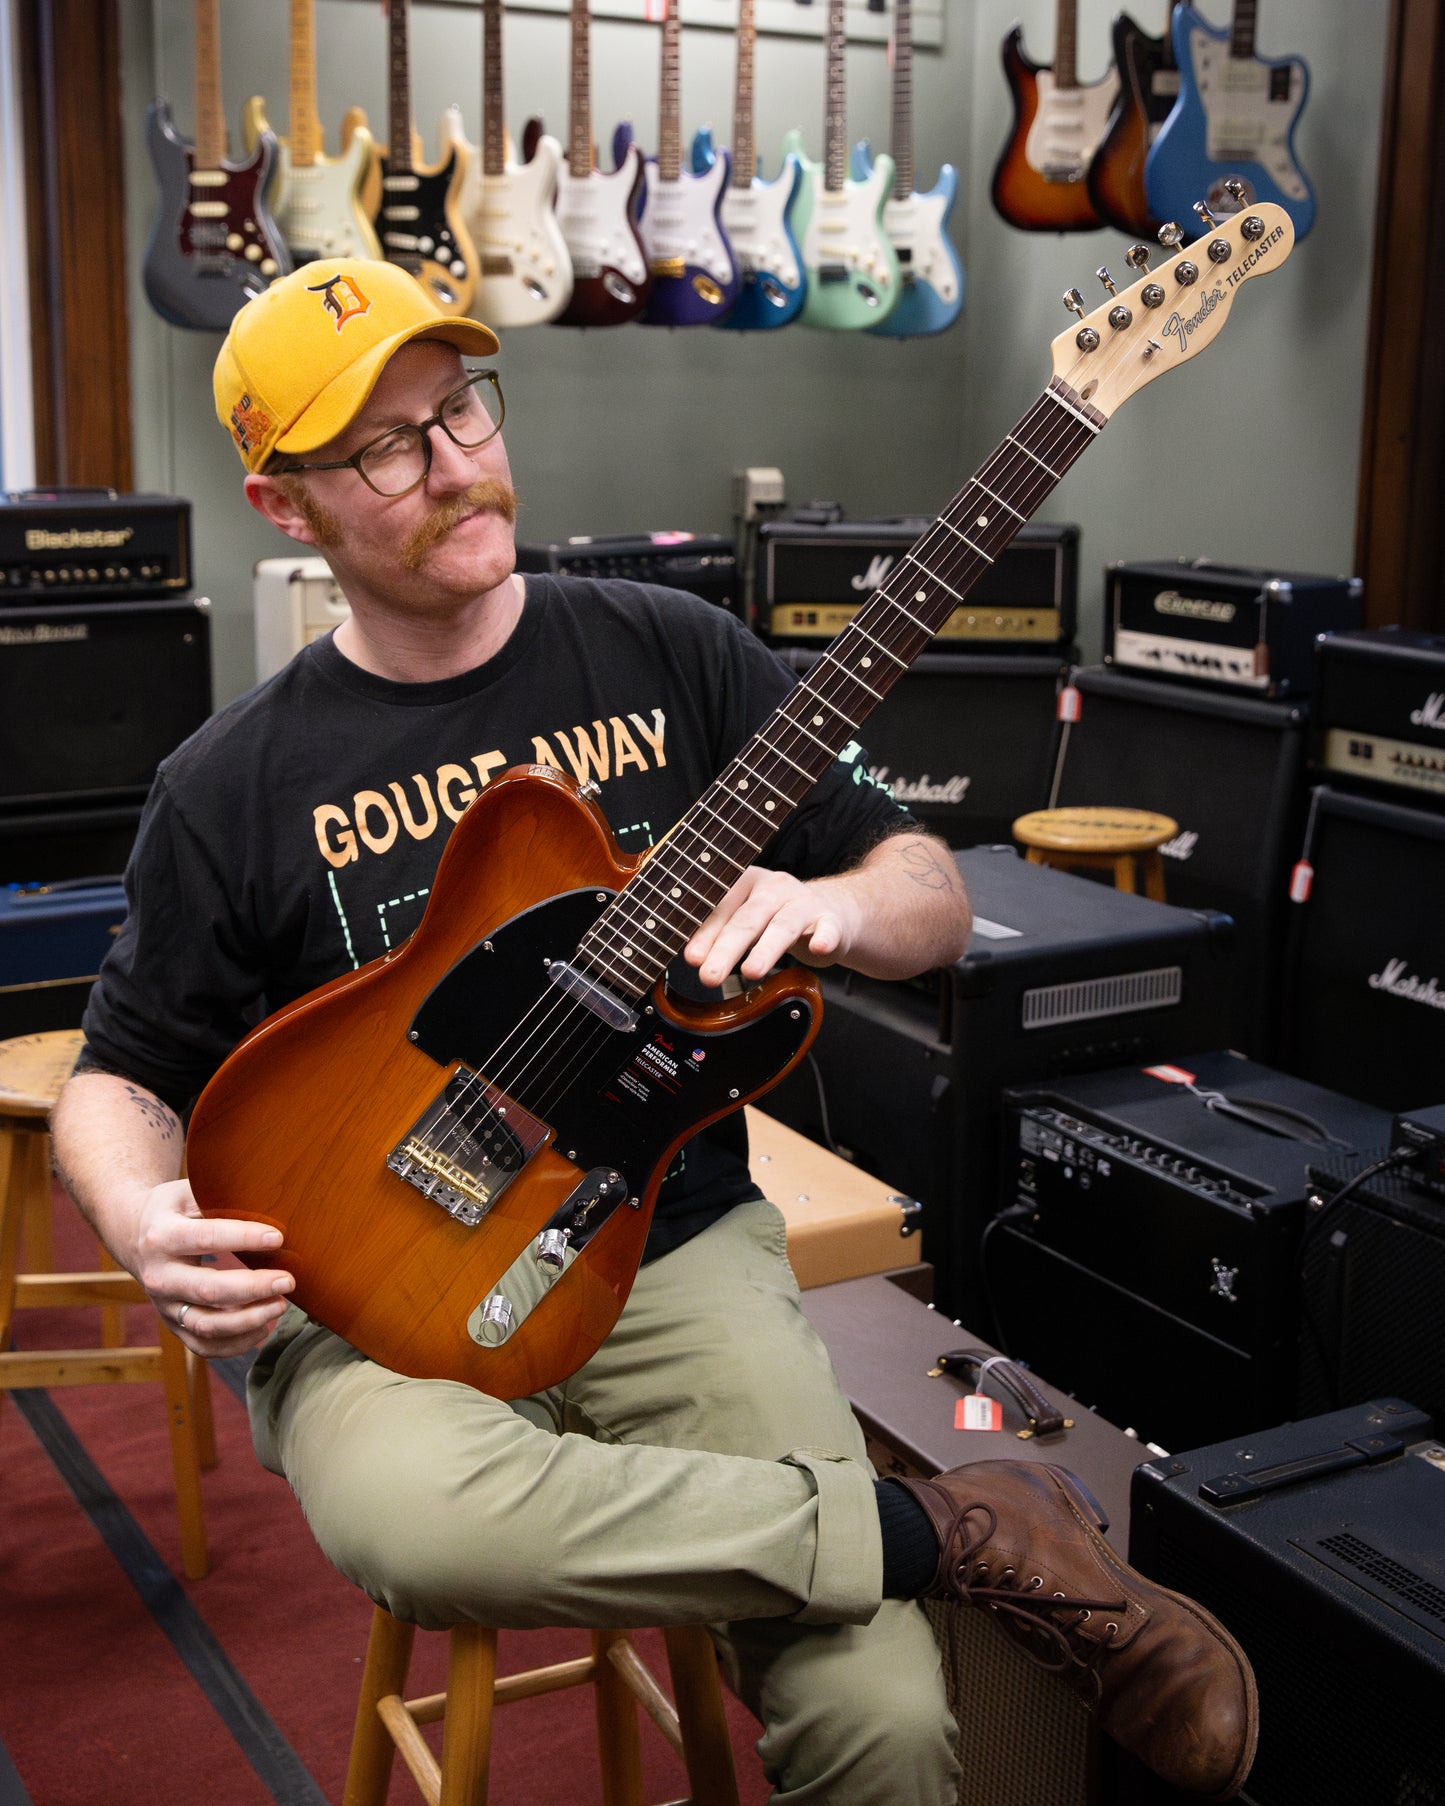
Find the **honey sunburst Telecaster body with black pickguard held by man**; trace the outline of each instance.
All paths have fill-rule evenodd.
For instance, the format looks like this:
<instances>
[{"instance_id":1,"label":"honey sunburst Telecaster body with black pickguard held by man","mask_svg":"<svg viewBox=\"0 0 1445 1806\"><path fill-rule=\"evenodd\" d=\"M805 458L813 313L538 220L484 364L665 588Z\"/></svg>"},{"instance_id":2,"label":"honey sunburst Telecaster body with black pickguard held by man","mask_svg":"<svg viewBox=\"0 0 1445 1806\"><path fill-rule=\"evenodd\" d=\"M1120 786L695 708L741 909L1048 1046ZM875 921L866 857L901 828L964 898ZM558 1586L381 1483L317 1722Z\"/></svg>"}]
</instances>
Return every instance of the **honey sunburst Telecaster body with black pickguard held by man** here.
<instances>
[{"instance_id":1,"label":"honey sunburst Telecaster body with black pickguard held by man","mask_svg":"<svg viewBox=\"0 0 1445 1806\"><path fill-rule=\"evenodd\" d=\"M657 988L630 1028L551 982L636 865L571 778L506 773L453 831L410 941L267 1019L195 1107L202 1210L278 1228L266 1264L399 1373L499 1398L574 1373L627 1302L676 1149L813 1038L816 981L797 970L719 1006ZM531 1248L580 1206L547 1289ZM482 1306L513 1262L509 1297L540 1302L493 1345Z\"/></svg>"}]
</instances>

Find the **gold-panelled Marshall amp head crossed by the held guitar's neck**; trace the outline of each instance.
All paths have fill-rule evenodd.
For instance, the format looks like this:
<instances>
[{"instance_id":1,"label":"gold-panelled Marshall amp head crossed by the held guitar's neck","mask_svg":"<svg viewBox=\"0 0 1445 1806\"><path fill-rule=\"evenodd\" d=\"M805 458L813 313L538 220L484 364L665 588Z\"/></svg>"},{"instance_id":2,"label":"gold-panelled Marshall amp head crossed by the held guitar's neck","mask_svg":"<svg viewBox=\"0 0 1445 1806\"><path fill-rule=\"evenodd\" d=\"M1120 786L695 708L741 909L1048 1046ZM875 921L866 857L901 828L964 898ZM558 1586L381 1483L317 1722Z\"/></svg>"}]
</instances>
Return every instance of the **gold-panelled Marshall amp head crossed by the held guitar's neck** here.
<instances>
[{"instance_id":1,"label":"gold-panelled Marshall amp head crossed by the held guitar's neck","mask_svg":"<svg viewBox=\"0 0 1445 1806\"><path fill-rule=\"evenodd\" d=\"M900 520L766 520L757 535L757 627L782 647L822 647L932 526ZM1078 527L1019 527L937 634L939 650L1044 652L1073 645Z\"/></svg>"}]
</instances>

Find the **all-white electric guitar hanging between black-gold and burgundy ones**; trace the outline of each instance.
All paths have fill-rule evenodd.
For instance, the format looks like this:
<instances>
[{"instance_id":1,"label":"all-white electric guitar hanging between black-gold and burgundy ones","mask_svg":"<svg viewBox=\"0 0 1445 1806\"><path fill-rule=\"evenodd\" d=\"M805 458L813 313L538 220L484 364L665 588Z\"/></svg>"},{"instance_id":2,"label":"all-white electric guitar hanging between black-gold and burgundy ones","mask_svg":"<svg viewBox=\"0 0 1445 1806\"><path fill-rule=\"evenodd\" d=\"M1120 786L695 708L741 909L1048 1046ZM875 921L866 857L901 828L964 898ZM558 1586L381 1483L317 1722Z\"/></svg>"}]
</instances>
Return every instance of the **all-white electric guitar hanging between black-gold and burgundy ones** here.
<instances>
[{"instance_id":1,"label":"all-white electric guitar hanging between black-gold and burgundy ones","mask_svg":"<svg viewBox=\"0 0 1445 1806\"><path fill-rule=\"evenodd\" d=\"M443 141L466 144L455 107L441 130ZM482 154L466 144L457 211L482 271L471 305L491 327L544 325L573 296L573 260L553 211L562 146L540 130L531 137L526 163L513 163L502 108L502 0L482 0Z\"/></svg>"}]
</instances>

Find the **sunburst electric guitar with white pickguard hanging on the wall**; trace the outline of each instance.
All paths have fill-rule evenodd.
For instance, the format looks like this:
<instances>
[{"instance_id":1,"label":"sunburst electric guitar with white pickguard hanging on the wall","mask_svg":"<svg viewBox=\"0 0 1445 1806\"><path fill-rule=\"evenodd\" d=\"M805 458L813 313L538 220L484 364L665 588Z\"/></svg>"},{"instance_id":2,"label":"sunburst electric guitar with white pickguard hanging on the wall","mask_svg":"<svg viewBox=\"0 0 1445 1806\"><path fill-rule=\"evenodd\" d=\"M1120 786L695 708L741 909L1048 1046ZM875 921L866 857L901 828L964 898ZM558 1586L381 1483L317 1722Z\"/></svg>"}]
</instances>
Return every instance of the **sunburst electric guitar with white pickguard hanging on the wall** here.
<instances>
[{"instance_id":1,"label":"sunburst electric guitar with white pickguard hanging on the wall","mask_svg":"<svg viewBox=\"0 0 1445 1806\"><path fill-rule=\"evenodd\" d=\"M1024 56L1021 25L1004 38L1013 130L993 170L992 191L999 213L1024 231L1091 231L1102 224L1087 175L1118 98L1118 70L1080 83L1075 52L1075 0L1057 0L1051 69Z\"/></svg>"}]
</instances>

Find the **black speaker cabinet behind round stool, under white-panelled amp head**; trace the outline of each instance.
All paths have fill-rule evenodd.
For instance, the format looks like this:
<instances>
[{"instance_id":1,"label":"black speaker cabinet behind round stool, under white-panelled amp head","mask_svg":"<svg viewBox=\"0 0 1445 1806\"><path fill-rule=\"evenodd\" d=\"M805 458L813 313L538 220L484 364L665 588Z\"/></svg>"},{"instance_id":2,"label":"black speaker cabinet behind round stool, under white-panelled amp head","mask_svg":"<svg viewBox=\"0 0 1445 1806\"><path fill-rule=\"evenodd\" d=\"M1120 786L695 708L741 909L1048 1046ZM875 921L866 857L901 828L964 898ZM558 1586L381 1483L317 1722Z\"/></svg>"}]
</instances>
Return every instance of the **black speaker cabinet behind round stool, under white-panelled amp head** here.
<instances>
[{"instance_id":1,"label":"black speaker cabinet behind round stool, under white-panelled amp head","mask_svg":"<svg viewBox=\"0 0 1445 1806\"><path fill-rule=\"evenodd\" d=\"M1223 695L1089 666L1075 672L1051 804L1158 809L1170 903L1234 917L1239 988L1223 1042L1273 1060L1290 867L1306 807L1300 703ZM1340 1089L1349 1089L1340 1087Z\"/></svg>"}]
</instances>

